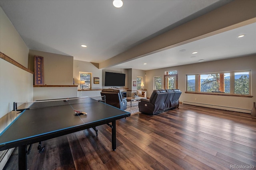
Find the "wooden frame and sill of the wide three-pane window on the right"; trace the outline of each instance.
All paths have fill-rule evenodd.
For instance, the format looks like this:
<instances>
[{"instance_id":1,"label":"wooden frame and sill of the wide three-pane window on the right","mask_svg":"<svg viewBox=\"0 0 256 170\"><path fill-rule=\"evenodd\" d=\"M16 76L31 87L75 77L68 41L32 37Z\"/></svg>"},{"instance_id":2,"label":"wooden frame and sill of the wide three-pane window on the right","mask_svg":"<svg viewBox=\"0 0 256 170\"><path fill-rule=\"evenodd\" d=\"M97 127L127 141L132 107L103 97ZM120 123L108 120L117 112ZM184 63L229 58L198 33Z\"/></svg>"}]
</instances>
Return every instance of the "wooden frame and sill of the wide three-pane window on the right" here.
<instances>
[{"instance_id":1,"label":"wooden frame and sill of the wide three-pane window on the right","mask_svg":"<svg viewBox=\"0 0 256 170\"><path fill-rule=\"evenodd\" d=\"M237 72L249 72L249 94L235 94L235 73ZM230 73L230 93L224 92L200 92L198 91L198 86L200 81L198 79L199 75L202 74L222 74L222 73ZM188 76L195 75L195 91L188 91ZM220 95L220 96L239 96L239 97L250 97L252 98L252 70L239 70L239 71L226 71L226 72L209 72L209 73L199 73L199 74L186 74L186 82L185 82L185 93L191 94L208 94L208 95Z\"/></svg>"}]
</instances>

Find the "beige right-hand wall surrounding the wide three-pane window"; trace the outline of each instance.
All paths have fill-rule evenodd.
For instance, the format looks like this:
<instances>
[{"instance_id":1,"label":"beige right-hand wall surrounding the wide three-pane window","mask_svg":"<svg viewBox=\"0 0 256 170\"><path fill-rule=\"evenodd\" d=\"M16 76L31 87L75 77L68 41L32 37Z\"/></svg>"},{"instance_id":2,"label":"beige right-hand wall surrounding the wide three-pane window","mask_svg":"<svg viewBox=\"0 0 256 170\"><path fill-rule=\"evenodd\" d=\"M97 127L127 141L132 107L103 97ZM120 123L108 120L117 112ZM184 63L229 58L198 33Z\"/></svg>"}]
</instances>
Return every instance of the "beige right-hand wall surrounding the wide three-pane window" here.
<instances>
[{"instance_id":1,"label":"beige right-hand wall surrounding the wide three-pane window","mask_svg":"<svg viewBox=\"0 0 256 170\"><path fill-rule=\"evenodd\" d=\"M242 111L246 113L250 113L253 102L256 102L256 55L148 70L146 71L146 88L148 90L147 97L150 97L150 94L153 91L154 76L162 76L162 88L164 88L164 72L169 70L177 70L178 72L178 88L182 91L180 102L198 103L208 107L220 106L218 108ZM251 84L253 98L184 93L186 90L186 74L237 70L252 70Z\"/></svg>"}]
</instances>

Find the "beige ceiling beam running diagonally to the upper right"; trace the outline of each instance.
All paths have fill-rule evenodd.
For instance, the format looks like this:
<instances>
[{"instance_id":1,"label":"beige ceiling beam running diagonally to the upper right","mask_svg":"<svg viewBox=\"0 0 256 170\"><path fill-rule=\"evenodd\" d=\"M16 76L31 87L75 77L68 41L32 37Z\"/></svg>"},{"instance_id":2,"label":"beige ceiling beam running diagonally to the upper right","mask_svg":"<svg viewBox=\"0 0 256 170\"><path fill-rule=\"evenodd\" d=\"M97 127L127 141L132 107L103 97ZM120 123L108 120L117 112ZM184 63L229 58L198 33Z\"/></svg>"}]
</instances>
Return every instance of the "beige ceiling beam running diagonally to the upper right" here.
<instances>
[{"instance_id":1,"label":"beige ceiling beam running diagonally to the upper right","mask_svg":"<svg viewBox=\"0 0 256 170\"><path fill-rule=\"evenodd\" d=\"M203 16L175 27L166 33L158 35L136 47L99 63L99 68L108 68L256 22L255 7L256 0L232 1L216 10L212 10Z\"/></svg>"}]
</instances>

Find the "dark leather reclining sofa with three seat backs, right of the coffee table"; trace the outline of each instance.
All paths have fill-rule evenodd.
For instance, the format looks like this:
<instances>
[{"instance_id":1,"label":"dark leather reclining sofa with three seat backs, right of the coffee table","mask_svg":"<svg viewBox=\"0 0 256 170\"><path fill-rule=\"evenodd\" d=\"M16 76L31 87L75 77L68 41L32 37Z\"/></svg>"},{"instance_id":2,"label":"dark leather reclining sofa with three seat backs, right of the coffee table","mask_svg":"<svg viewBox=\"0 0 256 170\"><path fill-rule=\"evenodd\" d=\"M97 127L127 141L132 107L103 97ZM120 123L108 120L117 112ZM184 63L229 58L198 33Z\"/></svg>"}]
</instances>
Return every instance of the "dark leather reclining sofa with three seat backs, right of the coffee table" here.
<instances>
[{"instance_id":1,"label":"dark leather reclining sofa with three seat backs, right of the coffee table","mask_svg":"<svg viewBox=\"0 0 256 170\"><path fill-rule=\"evenodd\" d=\"M141 99L139 111L154 115L175 107L179 107L181 91L178 89L154 90L150 99Z\"/></svg>"}]
</instances>

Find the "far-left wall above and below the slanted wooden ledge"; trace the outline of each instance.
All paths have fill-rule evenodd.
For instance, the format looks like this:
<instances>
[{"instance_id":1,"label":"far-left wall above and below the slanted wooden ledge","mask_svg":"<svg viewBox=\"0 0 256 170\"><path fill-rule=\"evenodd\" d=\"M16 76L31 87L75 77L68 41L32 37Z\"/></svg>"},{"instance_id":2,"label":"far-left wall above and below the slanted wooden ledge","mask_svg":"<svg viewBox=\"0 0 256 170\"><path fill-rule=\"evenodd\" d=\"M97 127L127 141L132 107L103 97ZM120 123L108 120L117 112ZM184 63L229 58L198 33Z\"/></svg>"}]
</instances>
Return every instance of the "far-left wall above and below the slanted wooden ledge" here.
<instances>
[{"instance_id":1,"label":"far-left wall above and below the slanted wooden ledge","mask_svg":"<svg viewBox=\"0 0 256 170\"><path fill-rule=\"evenodd\" d=\"M23 66L28 66L28 47L0 8L0 51ZM0 59L0 133L16 118L13 102L32 101L33 74ZM0 169L13 149L0 152Z\"/></svg>"}]
</instances>

